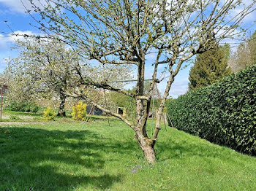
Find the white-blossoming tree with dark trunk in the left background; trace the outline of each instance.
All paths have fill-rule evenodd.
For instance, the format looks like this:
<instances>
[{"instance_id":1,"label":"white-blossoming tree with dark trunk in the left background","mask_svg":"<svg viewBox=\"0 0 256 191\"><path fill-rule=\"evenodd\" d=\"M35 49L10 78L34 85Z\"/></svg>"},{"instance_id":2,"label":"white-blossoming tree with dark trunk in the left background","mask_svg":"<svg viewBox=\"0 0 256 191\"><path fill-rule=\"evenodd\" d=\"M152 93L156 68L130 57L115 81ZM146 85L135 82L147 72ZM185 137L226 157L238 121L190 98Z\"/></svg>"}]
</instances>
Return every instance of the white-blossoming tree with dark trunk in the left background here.
<instances>
[{"instance_id":1,"label":"white-blossoming tree with dark trunk in the left background","mask_svg":"<svg viewBox=\"0 0 256 191\"><path fill-rule=\"evenodd\" d=\"M10 97L24 96L24 100L57 95L60 100L58 115L65 116L67 84L72 68L79 61L75 52L56 39L18 41L18 58L11 59L6 73L10 77ZM21 100L21 99L20 99Z\"/></svg>"}]
</instances>

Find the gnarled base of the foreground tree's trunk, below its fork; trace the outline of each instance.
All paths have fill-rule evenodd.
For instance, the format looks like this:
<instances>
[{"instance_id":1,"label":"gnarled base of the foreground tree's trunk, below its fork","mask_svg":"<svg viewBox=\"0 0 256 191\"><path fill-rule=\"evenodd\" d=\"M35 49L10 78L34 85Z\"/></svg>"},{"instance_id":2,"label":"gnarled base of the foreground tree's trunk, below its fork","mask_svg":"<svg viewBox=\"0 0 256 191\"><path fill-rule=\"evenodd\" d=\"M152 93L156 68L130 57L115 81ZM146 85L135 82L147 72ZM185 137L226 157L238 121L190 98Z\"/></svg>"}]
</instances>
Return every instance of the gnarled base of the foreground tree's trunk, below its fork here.
<instances>
[{"instance_id":1,"label":"gnarled base of the foreground tree's trunk, below its fork","mask_svg":"<svg viewBox=\"0 0 256 191\"><path fill-rule=\"evenodd\" d=\"M149 163L154 164L156 162L156 155L153 148L153 141L151 139L148 139L147 136L143 136L142 130L137 130L137 137L140 148L143 149L146 160L148 160Z\"/></svg>"}]
</instances>

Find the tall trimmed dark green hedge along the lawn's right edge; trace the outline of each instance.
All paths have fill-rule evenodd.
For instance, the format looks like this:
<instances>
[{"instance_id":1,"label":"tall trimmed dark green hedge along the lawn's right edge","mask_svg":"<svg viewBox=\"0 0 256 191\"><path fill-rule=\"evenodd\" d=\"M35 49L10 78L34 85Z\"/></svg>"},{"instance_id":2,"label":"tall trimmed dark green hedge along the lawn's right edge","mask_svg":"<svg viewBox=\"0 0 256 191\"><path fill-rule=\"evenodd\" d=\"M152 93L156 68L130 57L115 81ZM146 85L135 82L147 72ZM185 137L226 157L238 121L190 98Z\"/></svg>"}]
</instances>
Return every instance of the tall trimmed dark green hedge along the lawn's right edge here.
<instances>
[{"instance_id":1,"label":"tall trimmed dark green hedge along the lawn's right edge","mask_svg":"<svg viewBox=\"0 0 256 191\"><path fill-rule=\"evenodd\" d=\"M179 96L167 112L179 130L256 155L255 101L256 65Z\"/></svg>"}]
</instances>

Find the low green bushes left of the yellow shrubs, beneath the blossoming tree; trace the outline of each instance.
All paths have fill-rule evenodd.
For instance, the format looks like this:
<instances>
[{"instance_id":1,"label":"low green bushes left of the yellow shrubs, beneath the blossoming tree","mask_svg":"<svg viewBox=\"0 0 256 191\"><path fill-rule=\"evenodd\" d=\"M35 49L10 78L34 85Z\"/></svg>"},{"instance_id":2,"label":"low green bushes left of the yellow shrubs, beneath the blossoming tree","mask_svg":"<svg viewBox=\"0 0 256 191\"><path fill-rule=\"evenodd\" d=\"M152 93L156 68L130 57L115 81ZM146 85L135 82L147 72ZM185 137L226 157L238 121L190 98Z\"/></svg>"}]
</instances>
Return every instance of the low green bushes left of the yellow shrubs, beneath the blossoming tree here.
<instances>
[{"instance_id":1,"label":"low green bushes left of the yellow shrubs, beneath the blossoming tree","mask_svg":"<svg viewBox=\"0 0 256 191\"><path fill-rule=\"evenodd\" d=\"M39 106L37 104L31 102L18 102L18 101L11 101L7 109L15 112L38 112Z\"/></svg>"}]
</instances>

